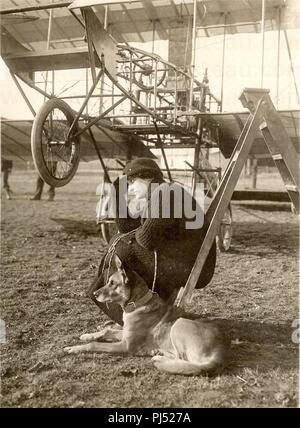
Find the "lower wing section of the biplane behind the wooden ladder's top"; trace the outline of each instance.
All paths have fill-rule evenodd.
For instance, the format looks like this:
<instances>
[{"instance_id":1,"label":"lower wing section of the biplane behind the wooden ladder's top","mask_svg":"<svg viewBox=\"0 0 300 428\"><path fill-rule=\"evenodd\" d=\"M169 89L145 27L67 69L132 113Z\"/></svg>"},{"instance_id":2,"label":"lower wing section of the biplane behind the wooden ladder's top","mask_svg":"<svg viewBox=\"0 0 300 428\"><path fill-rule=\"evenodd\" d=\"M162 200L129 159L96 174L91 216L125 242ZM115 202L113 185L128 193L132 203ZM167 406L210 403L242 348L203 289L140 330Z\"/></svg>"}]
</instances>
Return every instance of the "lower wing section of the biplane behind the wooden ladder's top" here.
<instances>
[{"instance_id":1,"label":"lower wing section of the biplane behind the wooden ladder's top","mask_svg":"<svg viewBox=\"0 0 300 428\"><path fill-rule=\"evenodd\" d=\"M218 126L219 141L218 145L225 158L229 158L234 150L236 142L247 121L248 113L213 113L208 114L208 120ZM279 111L281 121L286 129L297 152L300 147L300 110L282 110ZM268 155L270 153L265 145L264 139L258 130L250 154L256 157Z\"/></svg>"}]
</instances>

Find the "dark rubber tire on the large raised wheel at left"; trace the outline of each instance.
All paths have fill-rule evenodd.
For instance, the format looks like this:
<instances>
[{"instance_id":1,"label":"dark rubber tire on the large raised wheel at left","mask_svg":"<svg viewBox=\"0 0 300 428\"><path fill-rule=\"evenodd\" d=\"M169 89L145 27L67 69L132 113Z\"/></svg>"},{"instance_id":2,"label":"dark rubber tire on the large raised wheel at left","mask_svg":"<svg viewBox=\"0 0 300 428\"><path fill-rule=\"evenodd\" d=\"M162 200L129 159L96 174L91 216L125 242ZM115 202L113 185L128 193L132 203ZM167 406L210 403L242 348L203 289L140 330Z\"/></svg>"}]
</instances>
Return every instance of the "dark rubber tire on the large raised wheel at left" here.
<instances>
[{"instance_id":1,"label":"dark rubber tire on the large raised wheel at left","mask_svg":"<svg viewBox=\"0 0 300 428\"><path fill-rule=\"evenodd\" d=\"M34 165L40 175L40 177L47 183L49 186L62 187L69 183L73 176L75 175L79 161L80 161L80 140L79 138L75 141L76 144L76 155L75 162L72 165L70 173L65 178L56 178L53 177L45 163L45 159L42 151L42 132L44 122L49 115L49 113L54 109L60 109L65 115L71 125L74 120L74 113L71 107L59 98L51 98L46 101L41 108L38 110L35 119L33 121L32 130L31 130L31 151L34 161ZM77 126L74 129L74 132L77 132Z\"/></svg>"}]
</instances>

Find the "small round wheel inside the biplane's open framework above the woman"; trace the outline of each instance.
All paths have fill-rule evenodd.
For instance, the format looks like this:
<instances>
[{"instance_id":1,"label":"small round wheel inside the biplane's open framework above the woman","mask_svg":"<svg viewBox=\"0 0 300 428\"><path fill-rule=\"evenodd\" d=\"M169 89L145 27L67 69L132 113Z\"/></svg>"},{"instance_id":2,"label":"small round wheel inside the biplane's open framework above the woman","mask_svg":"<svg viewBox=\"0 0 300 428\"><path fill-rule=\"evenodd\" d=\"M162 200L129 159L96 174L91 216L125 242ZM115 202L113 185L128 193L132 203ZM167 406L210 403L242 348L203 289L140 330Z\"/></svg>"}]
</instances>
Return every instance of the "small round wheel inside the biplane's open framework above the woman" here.
<instances>
[{"instance_id":1,"label":"small round wheel inside the biplane's open framework above the woman","mask_svg":"<svg viewBox=\"0 0 300 428\"><path fill-rule=\"evenodd\" d=\"M163 62L148 55L134 59L133 82L137 86L146 91L153 89L155 86L155 75L156 86L159 86L166 77L166 66Z\"/></svg>"}]
</instances>

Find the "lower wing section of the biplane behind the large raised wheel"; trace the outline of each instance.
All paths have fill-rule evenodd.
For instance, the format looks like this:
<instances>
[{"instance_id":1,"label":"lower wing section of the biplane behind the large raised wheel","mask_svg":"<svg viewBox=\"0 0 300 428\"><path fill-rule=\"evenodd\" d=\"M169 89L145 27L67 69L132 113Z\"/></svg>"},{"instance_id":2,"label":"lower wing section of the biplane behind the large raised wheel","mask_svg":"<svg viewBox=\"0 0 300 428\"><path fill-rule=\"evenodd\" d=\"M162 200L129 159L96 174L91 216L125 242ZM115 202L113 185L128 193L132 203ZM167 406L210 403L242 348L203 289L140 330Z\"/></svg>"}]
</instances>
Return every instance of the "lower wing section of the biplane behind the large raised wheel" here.
<instances>
[{"instance_id":1,"label":"lower wing section of the biplane behind the large raised wheel","mask_svg":"<svg viewBox=\"0 0 300 428\"><path fill-rule=\"evenodd\" d=\"M1 153L8 159L23 161L32 160L30 139L33 120L2 120L1 123ZM83 123L79 122L83 127ZM92 127L97 146L103 158L118 158L125 160L128 157L155 156L138 138L110 130L104 127ZM91 161L98 159L94 145L87 133L81 135L81 160Z\"/></svg>"}]
</instances>

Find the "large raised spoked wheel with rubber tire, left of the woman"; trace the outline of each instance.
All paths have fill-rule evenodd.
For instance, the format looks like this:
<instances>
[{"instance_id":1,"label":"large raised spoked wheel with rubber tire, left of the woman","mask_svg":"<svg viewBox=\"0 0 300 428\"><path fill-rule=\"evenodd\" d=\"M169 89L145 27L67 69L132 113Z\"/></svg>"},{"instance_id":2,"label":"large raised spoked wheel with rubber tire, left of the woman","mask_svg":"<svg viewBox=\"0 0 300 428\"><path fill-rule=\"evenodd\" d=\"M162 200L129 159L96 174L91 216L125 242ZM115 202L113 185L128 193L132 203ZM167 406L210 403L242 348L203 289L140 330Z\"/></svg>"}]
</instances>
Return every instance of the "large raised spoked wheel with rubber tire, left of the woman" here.
<instances>
[{"instance_id":1,"label":"large raised spoked wheel with rubber tire, left of the woman","mask_svg":"<svg viewBox=\"0 0 300 428\"><path fill-rule=\"evenodd\" d=\"M73 120L72 109L58 98L45 102L34 119L32 156L41 178L50 186L64 186L77 171L80 142L68 135ZM77 130L75 126L73 135Z\"/></svg>"}]
</instances>

